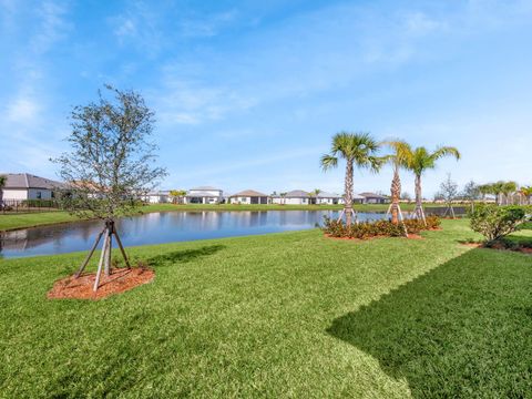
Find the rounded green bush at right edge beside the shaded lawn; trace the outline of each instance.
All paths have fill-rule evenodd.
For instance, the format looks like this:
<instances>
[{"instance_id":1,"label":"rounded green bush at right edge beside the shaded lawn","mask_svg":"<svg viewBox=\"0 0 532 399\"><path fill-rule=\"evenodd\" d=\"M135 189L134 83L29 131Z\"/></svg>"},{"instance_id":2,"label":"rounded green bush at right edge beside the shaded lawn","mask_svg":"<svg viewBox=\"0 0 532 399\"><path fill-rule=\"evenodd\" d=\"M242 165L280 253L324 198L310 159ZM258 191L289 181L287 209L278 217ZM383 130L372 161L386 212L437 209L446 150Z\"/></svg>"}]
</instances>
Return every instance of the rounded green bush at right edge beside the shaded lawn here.
<instances>
[{"instance_id":1,"label":"rounded green bush at right edge beside the shaded lawn","mask_svg":"<svg viewBox=\"0 0 532 399\"><path fill-rule=\"evenodd\" d=\"M522 206L480 205L469 213L471 228L482 234L489 243L518 229L525 219Z\"/></svg>"}]
</instances>

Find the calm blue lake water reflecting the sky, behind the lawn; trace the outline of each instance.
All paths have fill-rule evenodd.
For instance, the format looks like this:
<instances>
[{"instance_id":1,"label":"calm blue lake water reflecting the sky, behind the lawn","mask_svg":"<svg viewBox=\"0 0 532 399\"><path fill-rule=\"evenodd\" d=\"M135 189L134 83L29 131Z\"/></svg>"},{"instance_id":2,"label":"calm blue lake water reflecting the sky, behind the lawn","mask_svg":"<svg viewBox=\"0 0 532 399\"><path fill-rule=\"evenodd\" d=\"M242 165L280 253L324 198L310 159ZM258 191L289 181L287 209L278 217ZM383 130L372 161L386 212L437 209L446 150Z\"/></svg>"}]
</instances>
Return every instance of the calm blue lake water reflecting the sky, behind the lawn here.
<instances>
[{"instance_id":1,"label":"calm blue lake water reflecting the sky, behind the lawn","mask_svg":"<svg viewBox=\"0 0 532 399\"><path fill-rule=\"evenodd\" d=\"M234 237L314 228L337 211L161 212L116 221L124 246ZM383 214L361 213L360 221ZM102 222L69 224L0 233L0 257L64 254L88 250L102 231Z\"/></svg>"}]
</instances>

